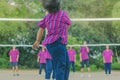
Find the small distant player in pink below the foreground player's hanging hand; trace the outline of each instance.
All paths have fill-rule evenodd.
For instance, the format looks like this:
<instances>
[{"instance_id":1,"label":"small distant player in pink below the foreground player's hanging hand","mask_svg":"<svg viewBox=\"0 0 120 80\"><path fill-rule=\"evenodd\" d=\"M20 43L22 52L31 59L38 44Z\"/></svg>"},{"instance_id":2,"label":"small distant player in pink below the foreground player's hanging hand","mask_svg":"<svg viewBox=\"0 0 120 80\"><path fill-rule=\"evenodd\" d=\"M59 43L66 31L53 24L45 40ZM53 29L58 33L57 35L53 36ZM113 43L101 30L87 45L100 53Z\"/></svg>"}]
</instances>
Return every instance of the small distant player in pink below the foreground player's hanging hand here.
<instances>
[{"instance_id":1,"label":"small distant player in pink below the foreground player's hanging hand","mask_svg":"<svg viewBox=\"0 0 120 80\"><path fill-rule=\"evenodd\" d=\"M45 47L42 47L42 50L40 50L38 52L37 62L40 64L39 65L39 74L41 75L42 68L44 68L44 70L46 72L46 50L45 50Z\"/></svg>"}]
</instances>

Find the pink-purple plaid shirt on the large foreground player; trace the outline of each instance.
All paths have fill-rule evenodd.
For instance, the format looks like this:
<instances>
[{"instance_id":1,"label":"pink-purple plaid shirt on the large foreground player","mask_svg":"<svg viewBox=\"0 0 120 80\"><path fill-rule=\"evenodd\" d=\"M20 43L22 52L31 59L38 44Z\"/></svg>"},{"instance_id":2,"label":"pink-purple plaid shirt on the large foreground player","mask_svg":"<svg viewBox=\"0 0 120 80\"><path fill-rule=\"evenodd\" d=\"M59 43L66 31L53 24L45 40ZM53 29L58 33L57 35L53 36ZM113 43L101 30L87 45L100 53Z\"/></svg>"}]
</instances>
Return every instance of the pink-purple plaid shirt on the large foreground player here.
<instances>
[{"instance_id":1,"label":"pink-purple plaid shirt on the large foreground player","mask_svg":"<svg viewBox=\"0 0 120 80\"><path fill-rule=\"evenodd\" d=\"M61 43L67 44L68 27L71 25L71 20L66 11L59 10L56 13L49 13L37 25L48 30L48 34L42 42L43 45L51 44L60 37L62 38Z\"/></svg>"}]
</instances>

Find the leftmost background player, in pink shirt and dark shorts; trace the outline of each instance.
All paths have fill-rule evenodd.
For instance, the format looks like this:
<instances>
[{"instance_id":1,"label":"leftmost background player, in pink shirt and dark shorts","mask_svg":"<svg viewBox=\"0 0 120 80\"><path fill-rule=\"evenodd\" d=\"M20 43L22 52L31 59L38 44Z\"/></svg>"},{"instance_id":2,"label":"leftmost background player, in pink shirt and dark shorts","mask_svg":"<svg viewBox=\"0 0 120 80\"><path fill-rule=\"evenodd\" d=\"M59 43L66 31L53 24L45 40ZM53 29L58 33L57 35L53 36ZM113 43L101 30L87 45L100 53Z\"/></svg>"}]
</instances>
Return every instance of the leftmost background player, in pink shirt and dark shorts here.
<instances>
[{"instance_id":1,"label":"leftmost background player, in pink shirt and dark shorts","mask_svg":"<svg viewBox=\"0 0 120 80\"><path fill-rule=\"evenodd\" d=\"M19 50L14 45L9 51L10 63L13 69L13 76L19 76L18 74L18 61L19 61Z\"/></svg>"}]
</instances>

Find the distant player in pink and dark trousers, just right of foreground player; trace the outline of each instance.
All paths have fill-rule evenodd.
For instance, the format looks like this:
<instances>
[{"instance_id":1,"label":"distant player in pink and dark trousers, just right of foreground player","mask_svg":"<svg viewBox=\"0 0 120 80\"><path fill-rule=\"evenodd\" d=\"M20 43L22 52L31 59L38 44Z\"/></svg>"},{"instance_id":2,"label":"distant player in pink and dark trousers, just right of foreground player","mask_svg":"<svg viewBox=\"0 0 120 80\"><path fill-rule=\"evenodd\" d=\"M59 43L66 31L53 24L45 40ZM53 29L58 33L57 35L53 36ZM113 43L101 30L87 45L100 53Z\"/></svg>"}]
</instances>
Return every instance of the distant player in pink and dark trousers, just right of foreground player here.
<instances>
[{"instance_id":1,"label":"distant player in pink and dark trousers, just right of foreground player","mask_svg":"<svg viewBox=\"0 0 120 80\"><path fill-rule=\"evenodd\" d=\"M72 65L72 71L75 72L76 51L70 46L68 49L68 56L70 65Z\"/></svg>"}]
</instances>

